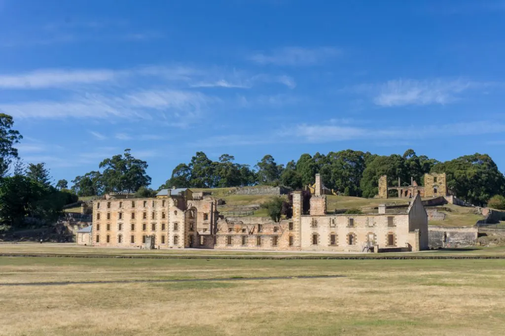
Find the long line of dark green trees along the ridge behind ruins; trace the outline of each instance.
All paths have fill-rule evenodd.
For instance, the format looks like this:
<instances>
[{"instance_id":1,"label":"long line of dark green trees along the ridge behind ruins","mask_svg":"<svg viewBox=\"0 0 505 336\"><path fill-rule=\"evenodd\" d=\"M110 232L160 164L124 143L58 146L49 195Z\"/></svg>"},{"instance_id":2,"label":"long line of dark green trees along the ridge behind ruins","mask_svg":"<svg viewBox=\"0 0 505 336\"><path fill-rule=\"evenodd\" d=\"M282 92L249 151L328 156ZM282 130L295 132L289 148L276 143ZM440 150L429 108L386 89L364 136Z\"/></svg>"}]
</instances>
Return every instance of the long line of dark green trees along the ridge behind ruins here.
<instances>
[{"instance_id":1,"label":"long line of dark green trees along the ridge behind ruins","mask_svg":"<svg viewBox=\"0 0 505 336\"><path fill-rule=\"evenodd\" d=\"M137 191L139 196L145 197L155 193L148 188L151 179L146 174L147 163L134 158L129 149L123 155L105 159L98 167L103 169L102 173L92 171L76 177L72 190L82 196ZM412 149L402 155L389 156L350 149L328 154L306 153L285 165L277 163L272 155L265 155L254 167L236 163L229 154L213 161L199 151L189 162L179 163L158 190L254 185L300 189L313 184L316 173L321 174L327 188L345 196L374 197L381 175L387 175L389 186L396 186L398 178L401 186L408 186L411 177L423 185L426 173L446 173L447 186L458 197L474 204L484 204L493 195L505 194L505 178L487 154L475 153L440 162L417 155Z\"/></svg>"}]
</instances>

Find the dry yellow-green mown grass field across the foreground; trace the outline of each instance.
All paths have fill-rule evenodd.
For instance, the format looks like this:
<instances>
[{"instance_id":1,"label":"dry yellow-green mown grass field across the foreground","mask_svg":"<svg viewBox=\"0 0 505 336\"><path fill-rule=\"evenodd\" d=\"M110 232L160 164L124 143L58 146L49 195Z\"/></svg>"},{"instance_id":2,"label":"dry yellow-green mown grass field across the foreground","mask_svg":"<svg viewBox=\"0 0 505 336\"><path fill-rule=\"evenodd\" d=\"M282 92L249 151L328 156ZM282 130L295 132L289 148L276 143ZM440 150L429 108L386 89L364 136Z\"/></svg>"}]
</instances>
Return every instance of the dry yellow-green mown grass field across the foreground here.
<instances>
[{"instance_id":1,"label":"dry yellow-green mown grass field across the foreground","mask_svg":"<svg viewBox=\"0 0 505 336\"><path fill-rule=\"evenodd\" d=\"M504 278L502 259L0 257L0 334L502 334Z\"/></svg>"}]
</instances>

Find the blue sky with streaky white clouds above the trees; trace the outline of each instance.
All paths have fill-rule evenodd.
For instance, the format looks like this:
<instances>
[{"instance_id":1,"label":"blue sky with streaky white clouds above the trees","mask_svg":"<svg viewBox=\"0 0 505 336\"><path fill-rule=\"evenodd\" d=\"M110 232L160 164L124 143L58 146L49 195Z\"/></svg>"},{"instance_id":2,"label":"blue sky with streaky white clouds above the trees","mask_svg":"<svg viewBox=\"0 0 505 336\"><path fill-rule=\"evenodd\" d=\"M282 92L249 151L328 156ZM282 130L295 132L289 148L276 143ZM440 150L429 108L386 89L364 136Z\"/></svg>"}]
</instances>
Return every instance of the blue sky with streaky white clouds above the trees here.
<instances>
[{"instance_id":1,"label":"blue sky with streaky white clouds above the trees","mask_svg":"<svg viewBox=\"0 0 505 336\"><path fill-rule=\"evenodd\" d=\"M488 153L505 169L505 1L0 0L0 111L68 181L131 148Z\"/></svg>"}]
</instances>

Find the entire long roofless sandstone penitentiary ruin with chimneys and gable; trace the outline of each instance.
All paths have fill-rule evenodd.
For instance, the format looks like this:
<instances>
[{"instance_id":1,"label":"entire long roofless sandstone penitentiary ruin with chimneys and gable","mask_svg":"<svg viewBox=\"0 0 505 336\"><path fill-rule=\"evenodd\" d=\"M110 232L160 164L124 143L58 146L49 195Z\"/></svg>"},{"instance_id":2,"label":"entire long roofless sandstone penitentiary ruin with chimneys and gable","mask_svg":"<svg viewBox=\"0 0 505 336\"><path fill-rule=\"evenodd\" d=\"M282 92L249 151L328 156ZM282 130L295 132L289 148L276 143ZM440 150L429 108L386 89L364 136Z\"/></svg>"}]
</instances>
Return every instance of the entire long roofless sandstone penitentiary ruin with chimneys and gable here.
<instances>
[{"instance_id":1,"label":"entire long roofless sandstone penitentiary ruin with chimneys and gable","mask_svg":"<svg viewBox=\"0 0 505 336\"><path fill-rule=\"evenodd\" d=\"M293 215L224 217L217 200L190 189L165 189L155 198L93 203L94 246L238 250L419 251L428 248L428 217L416 194L407 209L367 214L329 214L319 174L304 213L301 192L293 193ZM306 207L307 208L307 207Z\"/></svg>"}]
</instances>

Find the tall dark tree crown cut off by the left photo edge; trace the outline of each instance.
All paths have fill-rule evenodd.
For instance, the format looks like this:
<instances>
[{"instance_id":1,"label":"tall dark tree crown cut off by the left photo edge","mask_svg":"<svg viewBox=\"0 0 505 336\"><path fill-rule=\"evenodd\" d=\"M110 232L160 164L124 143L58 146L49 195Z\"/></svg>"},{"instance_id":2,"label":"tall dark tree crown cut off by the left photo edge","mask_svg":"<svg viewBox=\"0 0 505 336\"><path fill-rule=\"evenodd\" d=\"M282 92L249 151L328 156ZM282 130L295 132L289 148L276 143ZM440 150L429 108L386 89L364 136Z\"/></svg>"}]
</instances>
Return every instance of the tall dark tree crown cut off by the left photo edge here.
<instances>
[{"instance_id":1,"label":"tall dark tree crown cut off by the left photo edge","mask_svg":"<svg viewBox=\"0 0 505 336\"><path fill-rule=\"evenodd\" d=\"M6 176L13 159L18 158L18 150L14 147L23 136L13 130L14 119L0 113L0 177Z\"/></svg>"}]
</instances>

